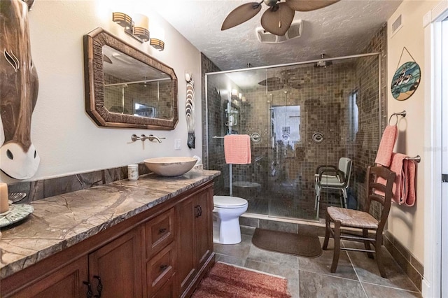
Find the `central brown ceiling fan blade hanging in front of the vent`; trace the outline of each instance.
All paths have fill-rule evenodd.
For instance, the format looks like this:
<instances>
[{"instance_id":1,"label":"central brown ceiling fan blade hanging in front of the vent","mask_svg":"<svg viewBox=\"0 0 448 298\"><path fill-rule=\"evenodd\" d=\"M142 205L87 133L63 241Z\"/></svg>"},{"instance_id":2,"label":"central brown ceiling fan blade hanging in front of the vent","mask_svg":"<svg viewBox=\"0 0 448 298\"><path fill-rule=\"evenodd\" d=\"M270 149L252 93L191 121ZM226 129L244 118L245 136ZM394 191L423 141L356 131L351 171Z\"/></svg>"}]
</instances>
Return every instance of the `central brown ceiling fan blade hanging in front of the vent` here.
<instances>
[{"instance_id":1,"label":"central brown ceiling fan blade hanging in front of the vent","mask_svg":"<svg viewBox=\"0 0 448 298\"><path fill-rule=\"evenodd\" d=\"M285 2L270 8L261 16L261 26L275 35L285 35L293 22L295 11Z\"/></svg>"}]
</instances>

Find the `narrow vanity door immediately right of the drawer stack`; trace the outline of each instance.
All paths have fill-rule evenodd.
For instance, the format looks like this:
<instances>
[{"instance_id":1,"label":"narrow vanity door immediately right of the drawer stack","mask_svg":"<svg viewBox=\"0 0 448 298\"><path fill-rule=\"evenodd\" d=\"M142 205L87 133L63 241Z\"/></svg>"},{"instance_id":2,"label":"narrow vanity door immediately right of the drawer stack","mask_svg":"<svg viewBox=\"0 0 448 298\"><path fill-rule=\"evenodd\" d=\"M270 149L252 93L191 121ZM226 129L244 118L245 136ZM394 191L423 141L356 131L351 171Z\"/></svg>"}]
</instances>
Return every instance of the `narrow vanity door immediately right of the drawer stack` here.
<instances>
[{"instance_id":1,"label":"narrow vanity door immediately right of the drawer stack","mask_svg":"<svg viewBox=\"0 0 448 298\"><path fill-rule=\"evenodd\" d=\"M190 285L196 275L195 266L195 234L193 233L195 204L193 198L187 199L176 206L178 220L177 242L177 276L179 280L180 294Z\"/></svg>"}]
</instances>

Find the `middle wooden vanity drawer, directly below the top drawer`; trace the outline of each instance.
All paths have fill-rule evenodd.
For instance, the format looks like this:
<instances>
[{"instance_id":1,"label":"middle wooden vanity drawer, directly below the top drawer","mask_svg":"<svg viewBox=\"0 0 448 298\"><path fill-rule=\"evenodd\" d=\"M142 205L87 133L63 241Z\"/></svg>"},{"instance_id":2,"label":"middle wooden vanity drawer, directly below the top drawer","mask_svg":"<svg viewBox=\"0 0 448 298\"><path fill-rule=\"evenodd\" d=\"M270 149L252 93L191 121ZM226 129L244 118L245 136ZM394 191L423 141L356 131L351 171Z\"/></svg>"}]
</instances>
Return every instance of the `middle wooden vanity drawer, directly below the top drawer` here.
<instances>
[{"instance_id":1,"label":"middle wooden vanity drawer, directly below the top drawer","mask_svg":"<svg viewBox=\"0 0 448 298\"><path fill-rule=\"evenodd\" d=\"M175 250L174 243L169 244L146 262L146 282L148 288L148 297L151 293L158 291L166 281L174 274Z\"/></svg>"}]
</instances>

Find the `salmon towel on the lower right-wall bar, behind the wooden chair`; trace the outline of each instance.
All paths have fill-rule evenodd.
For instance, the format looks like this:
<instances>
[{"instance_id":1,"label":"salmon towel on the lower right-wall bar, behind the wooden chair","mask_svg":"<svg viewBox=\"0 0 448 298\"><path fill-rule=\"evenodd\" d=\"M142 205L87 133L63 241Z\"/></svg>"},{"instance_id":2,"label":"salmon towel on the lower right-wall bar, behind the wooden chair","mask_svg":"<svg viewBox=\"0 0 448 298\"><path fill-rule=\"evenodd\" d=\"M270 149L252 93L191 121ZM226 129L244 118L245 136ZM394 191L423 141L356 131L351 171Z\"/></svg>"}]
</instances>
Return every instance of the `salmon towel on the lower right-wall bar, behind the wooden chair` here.
<instances>
[{"instance_id":1,"label":"salmon towel on the lower right-wall bar, behind the wooden chair","mask_svg":"<svg viewBox=\"0 0 448 298\"><path fill-rule=\"evenodd\" d=\"M416 163L406 159L406 155L392 153L391 166L389 169L397 174L393 183L393 200L398 204L414 206L415 204L415 178ZM378 177L378 183L386 184L384 178Z\"/></svg>"}]
</instances>

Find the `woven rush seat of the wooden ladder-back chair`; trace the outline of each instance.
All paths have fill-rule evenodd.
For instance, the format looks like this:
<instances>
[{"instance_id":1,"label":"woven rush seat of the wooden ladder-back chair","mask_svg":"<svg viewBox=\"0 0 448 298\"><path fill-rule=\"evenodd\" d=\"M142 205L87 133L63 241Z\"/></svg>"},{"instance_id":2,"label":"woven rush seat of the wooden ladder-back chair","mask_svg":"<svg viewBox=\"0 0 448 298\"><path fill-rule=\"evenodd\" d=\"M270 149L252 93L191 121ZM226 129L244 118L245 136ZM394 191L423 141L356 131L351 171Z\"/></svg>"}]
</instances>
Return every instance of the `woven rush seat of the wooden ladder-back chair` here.
<instances>
[{"instance_id":1,"label":"woven rush seat of the wooden ladder-back chair","mask_svg":"<svg viewBox=\"0 0 448 298\"><path fill-rule=\"evenodd\" d=\"M327 211L333 221L341 222L341 225L344 227L378 228L378 220L369 213L339 207L328 207Z\"/></svg>"}]
</instances>

